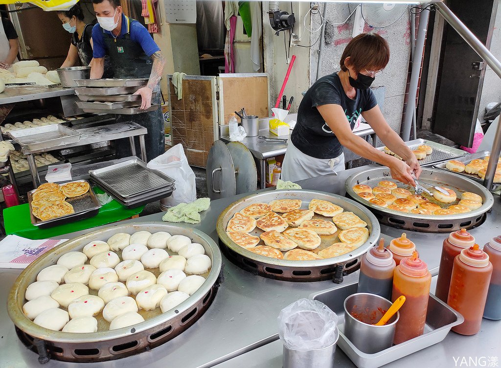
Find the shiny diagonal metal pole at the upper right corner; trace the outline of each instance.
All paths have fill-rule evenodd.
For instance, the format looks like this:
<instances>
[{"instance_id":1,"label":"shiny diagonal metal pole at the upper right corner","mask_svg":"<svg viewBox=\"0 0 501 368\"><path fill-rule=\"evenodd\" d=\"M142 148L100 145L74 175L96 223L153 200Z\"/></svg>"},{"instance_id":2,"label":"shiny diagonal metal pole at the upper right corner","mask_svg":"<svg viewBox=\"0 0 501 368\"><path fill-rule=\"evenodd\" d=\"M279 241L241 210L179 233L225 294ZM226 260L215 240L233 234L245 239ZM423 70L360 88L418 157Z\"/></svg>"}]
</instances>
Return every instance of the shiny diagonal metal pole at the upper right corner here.
<instances>
[{"instance_id":1,"label":"shiny diagonal metal pole at the upper right corner","mask_svg":"<svg viewBox=\"0 0 501 368\"><path fill-rule=\"evenodd\" d=\"M445 21L463 38L464 41L492 68L501 78L501 62L476 38L476 36L443 3L436 3L435 9Z\"/></svg>"}]
</instances>

